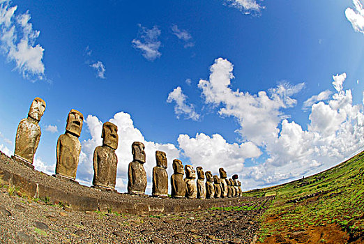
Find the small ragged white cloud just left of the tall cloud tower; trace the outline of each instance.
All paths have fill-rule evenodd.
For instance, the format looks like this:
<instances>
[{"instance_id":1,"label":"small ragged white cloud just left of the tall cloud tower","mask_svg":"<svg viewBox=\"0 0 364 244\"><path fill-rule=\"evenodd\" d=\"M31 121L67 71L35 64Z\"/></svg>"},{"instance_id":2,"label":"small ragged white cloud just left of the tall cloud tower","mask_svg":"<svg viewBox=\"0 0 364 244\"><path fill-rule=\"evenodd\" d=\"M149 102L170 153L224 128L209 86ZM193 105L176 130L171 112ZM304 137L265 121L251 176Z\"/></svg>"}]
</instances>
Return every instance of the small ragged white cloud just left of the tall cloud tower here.
<instances>
[{"instance_id":1,"label":"small ragged white cloud just left of the tall cloud tower","mask_svg":"<svg viewBox=\"0 0 364 244\"><path fill-rule=\"evenodd\" d=\"M177 115L177 119L179 119L182 114L185 114L186 119L197 121L199 119L199 114L195 111L195 106L187 104L186 100L187 96L183 93L181 86L177 86L171 91L167 98L167 102L176 102L176 105L174 105L174 112Z\"/></svg>"}]
</instances>

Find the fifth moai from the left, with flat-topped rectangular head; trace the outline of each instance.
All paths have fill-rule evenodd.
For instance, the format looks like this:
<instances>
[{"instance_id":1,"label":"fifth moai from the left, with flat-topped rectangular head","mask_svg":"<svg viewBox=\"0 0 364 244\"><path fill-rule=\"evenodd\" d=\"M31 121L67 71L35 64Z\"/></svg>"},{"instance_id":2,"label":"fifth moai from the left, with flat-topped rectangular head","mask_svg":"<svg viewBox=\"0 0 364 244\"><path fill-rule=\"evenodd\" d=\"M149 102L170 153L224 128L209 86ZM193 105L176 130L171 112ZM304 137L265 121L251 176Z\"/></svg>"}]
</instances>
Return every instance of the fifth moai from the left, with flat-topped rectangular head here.
<instances>
[{"instance_id":1,"label":"fifth moai from the left, with flat-topped rectangular head","mask_svg":"<svg viewBox=\"0 0 364 244\"><path fill-rule=\"evenodd\" d=\"M157 166L153 168L153 197L168 197L167 156L156 151Z\"/></svg>"}]
</instances>

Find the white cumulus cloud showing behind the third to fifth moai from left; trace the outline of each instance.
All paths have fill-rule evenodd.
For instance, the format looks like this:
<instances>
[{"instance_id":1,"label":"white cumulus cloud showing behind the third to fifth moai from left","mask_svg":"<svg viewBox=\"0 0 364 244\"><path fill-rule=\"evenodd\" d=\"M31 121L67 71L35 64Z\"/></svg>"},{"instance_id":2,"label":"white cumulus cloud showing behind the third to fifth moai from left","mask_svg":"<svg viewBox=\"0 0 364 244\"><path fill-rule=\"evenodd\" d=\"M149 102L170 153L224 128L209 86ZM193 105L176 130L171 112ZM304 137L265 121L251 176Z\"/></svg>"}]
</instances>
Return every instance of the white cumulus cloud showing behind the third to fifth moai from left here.
<instances>
[{"instance_id":1,"label":"white cumulus cloud showing behind the third to fifth moai from left","mask_svg":"<svg viewBox=\"0 0 364 244\"><path fill-rule=\"evenodd\" d=\"M174 158L179 158L180 151L173 144L158 144L144 139L142 132L135 128L134 123L129 114L119 112L114 115L114 118L109 120L118 126L119 146L116 149L118 157L118 171L116 178L116 188L120 192L126 192L126 185L128 183L128 164L132 161L132 142L142 142L145 146L146 163L144 168L148 177L147 192L151 193L151 173L154 166L156 166L156 150L164 151L167 153L167 160L169 165L172 165ZM84 183L91 183L93 177L93 151L96 146L103 144L101 138L101 131L103 129L103 122L96 116L89 115L84 121L89 129L91 138L82 142L82 152L80 155L79 169L77 170L77 179ZM172 174L172 168L168 167L168 174Z\"/></svg>"}]
</instances>

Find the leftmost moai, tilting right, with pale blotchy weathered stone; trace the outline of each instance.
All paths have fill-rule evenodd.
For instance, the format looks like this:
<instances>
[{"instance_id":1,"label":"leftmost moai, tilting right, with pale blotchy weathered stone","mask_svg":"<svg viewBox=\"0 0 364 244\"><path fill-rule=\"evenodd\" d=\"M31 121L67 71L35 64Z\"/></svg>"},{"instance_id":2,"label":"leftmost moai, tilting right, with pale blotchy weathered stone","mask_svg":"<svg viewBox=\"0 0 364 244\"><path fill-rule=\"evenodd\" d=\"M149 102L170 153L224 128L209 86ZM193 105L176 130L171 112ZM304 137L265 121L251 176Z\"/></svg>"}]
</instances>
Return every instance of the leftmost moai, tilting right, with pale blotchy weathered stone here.
<instances>
[{"instance_id":1,"label":"leftmost moai, tilting right, with pale blotchy weathered stone","mask_svg":"<svg viewBox=\"0 0 364 244\"><path fill-rule=\"evenodd\" d=\"M16 159L26 162L26 165L33 165L34 154L36 154L40 135L39 121L45 112L45 101L42 98L34 98L31 102L28 117L22 119L17 126L17 135L15 137ZM33 166L31 166L33 167Z\"/></svg>"}]
</instances>

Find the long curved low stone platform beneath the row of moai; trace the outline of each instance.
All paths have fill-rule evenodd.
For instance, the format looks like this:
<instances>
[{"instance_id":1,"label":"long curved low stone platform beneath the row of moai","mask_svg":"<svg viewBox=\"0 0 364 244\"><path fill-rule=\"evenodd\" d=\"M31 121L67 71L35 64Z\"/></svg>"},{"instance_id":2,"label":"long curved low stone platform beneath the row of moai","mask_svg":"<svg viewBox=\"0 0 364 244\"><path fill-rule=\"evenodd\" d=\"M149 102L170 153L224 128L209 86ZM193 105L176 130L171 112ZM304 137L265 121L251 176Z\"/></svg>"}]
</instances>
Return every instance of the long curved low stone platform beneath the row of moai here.
<instances>
[{"instance_id":1,"label":"long curved low stone platform beneath the row of moai","mask_svg":"<svg viewBox=\"0 0 364 244\"><path fill-rule=\"evenodd\" d=\"M231 206L244 197L227 199L172 199L104 192L61 178L49 176L8 158L0 151L0 178L20 188L29 197L50 199L69 205L75 211L107 211L118 213L158 214L196 211L212 207ZM246 199L245 199L246 200Z\"/></svg>"}]
</instances>

